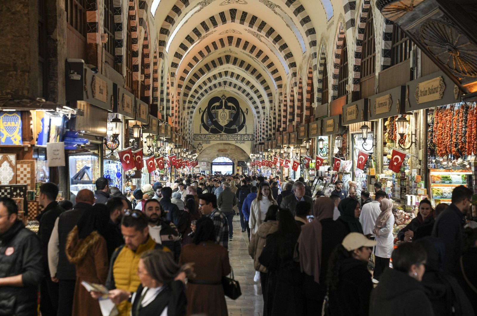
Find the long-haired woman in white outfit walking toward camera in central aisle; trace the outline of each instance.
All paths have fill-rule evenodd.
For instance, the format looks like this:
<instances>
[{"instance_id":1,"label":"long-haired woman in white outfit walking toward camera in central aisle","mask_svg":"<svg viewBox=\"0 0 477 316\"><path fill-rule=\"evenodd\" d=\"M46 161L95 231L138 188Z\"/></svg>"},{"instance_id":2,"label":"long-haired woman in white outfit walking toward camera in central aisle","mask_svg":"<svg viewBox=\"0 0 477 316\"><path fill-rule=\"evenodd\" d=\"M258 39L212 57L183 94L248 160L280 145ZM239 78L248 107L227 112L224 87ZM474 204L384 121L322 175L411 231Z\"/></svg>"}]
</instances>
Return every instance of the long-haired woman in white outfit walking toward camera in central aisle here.
<instances>
[{"instance_id":1,"label":"long-haired woman in white outfit walking toward camera in central aisle","mask_svg":"<svg viewBox=\"0 0 477 316\"><path fill-rule=\"evenodd\" d=\"M258 232L260 224L265 220L270 205L278 205L278 203L271 196L268 182L262 182L260 183L257 198L253 200L252 205L250 206L250 240L253 235Z\"/></svg>"}]
</instances>

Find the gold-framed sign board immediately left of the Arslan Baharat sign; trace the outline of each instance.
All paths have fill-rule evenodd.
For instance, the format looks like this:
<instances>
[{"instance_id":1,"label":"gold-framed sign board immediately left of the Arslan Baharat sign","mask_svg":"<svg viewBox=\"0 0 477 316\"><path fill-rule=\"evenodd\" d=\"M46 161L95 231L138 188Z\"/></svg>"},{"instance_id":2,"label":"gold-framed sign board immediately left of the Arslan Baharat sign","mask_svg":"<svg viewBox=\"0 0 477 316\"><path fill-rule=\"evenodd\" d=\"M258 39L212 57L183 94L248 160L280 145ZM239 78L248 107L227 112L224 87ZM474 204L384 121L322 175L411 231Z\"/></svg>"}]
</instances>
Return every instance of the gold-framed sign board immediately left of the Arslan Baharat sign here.
<instances>
[{"instance_id":1,"label":"gold-framed sign board immediately left of the Arslan Baharat sign","mask_svg":"<svg viewBox=\"0 0 477 316\"><path fill-rule=\"evenodd\" d=\"M370 96L368 98L367 120L385 119L394 115L404 114L404 97L405 86L399 86Z\"/></svg>"}]
</instances>

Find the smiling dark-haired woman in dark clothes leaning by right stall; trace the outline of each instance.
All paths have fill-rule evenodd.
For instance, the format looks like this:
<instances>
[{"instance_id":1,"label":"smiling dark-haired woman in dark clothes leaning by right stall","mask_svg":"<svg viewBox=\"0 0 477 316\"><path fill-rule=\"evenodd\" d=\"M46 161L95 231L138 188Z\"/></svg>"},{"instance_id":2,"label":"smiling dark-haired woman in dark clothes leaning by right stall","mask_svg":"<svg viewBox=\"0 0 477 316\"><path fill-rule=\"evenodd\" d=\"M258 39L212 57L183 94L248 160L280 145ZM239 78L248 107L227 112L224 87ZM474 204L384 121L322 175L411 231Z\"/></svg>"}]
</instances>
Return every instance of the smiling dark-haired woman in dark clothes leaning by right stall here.
<instances>
[{"instance_id":1,"label":"smiling dark-haired woman in dark clothes leaning by right stall","mask_svg":"<svg viewBox=\"0 0 477 316\"><path fill-rule=\"evenodd\" d=\"M419 202L419 213L397 234L401 241L412 241L422 237L431 236L434 227L434 209L431 201L423 199Z\"/></svg>"}]
</instances>

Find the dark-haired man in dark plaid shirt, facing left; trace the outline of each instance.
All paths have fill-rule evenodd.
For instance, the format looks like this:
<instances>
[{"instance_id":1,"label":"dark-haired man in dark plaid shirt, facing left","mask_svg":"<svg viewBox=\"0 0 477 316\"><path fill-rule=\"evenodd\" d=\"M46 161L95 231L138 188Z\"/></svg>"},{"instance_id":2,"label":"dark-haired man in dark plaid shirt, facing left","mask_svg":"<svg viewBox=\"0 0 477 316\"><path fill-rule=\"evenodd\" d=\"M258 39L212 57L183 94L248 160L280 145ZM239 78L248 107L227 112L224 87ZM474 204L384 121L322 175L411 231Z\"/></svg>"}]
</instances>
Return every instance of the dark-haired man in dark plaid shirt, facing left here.
<instances>
[{"instance_id":1,"label":"dark-haired man in dark plaid shirt, facing left","mask_svg":"<svg viewBox=\"0 0 477 316\"><path fill-rule=\"evenodd\" d=\"M217 197L213 193L204 193L199 196L199 212L210 217L215 227L215 243L228 248L227 217L217 208ZM193 227L195 231L195 227Z\"/></svg>"}]
</instances>

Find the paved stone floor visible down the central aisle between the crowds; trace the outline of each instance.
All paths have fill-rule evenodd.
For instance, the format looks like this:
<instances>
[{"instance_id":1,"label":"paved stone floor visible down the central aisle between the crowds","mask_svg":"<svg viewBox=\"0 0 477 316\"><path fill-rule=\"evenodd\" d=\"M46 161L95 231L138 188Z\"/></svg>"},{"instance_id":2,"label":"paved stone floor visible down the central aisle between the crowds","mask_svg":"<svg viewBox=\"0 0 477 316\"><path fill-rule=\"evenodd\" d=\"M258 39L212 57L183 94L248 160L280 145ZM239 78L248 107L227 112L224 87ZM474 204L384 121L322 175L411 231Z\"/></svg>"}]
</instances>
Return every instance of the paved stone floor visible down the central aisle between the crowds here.
<instances>
[{"instance_id":1,"label":"paved stone floor visible down the central aisle between the crowds","mask_svg":"<svg viewBox=\"0 0 477 316\"><path fill-rule=\"evenodd\" d=\"M259 316L263 315L263 298L258 293L259 283L253 282L255 269L249 256L249 237L242 233L240 217L234 216L234 240L228 242L228 256L234 270L235 279L240 283L242 295L235 301L226 297L228 314L230 316Z\"/></svg>"}]
</instances>

